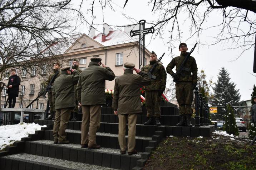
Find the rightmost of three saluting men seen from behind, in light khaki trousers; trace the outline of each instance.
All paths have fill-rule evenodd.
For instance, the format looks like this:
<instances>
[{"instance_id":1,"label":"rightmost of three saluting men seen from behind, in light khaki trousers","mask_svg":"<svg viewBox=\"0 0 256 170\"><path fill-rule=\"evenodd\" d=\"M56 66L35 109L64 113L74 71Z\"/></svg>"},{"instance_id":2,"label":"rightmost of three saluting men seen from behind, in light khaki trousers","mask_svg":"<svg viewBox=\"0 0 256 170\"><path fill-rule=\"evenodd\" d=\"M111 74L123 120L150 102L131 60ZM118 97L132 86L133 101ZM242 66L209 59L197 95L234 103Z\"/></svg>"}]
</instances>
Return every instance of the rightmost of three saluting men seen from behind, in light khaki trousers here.
<instances>
[{"instance_id":1,"label":"rightmost of three saluting men seen from behind, in light khaki trousers","mask_svg":"<svg viewBox=\"0 0 256 170\"><path fill-rule=\"evenodd\" d=\"M137 113L142 113L139 87L150 84L147 73L134 68L133 63L124 63L124 75L115 79L113 109L118 114L118 142L120 153L125 154L125 127L128 120L128 154L137 154L135 148ZM133 74L133 70L137 74Z\"/></svg>"}]
</instances>

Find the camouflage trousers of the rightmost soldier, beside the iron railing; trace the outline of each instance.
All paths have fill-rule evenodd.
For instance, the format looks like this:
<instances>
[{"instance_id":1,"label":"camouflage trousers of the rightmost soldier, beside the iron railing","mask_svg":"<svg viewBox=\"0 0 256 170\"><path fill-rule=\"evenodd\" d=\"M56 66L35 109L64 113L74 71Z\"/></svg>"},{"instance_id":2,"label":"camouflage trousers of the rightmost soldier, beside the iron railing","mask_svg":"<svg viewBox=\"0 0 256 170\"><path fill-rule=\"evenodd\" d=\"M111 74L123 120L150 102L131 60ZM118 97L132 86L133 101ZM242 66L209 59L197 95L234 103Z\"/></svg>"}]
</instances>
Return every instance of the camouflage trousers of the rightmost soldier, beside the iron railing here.
<instances>
[{"instance_id":1,"label":"camouflage trousers of the rightmost soldier, beside the iron railing","mask_svg":"<svg viewBox=\"0 0 256 170\"><path fill-rule=\"evenodd\" d=\"M193 83L191 81L178 81L176 87L176 99L179 103L179 114L192 114Z\"/></svg>"}]
</instances>

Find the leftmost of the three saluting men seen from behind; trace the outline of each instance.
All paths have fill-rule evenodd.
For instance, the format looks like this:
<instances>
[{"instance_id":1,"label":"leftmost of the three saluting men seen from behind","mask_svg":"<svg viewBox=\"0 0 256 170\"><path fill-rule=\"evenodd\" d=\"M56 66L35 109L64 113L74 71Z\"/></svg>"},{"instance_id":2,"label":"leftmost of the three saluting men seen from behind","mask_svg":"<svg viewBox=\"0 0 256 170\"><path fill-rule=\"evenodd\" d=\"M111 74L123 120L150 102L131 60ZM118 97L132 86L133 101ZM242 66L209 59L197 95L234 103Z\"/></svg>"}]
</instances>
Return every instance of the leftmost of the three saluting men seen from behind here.
<instances>
[{"instance_id":1,"label":"leftmost of the three saluting men seen from behind","mask_svg":"<svg viewBox=\"0 0 256 170\"><path fill-rule=\"evenodd\" d=\"M71 111L75 107L74 85L79 79L79 72L66 66L60 69L60 76L54 81L53 98L55 101L55 121L53 126L54 143L67 144L66 128ZM73 75L71 73L73 72Z\"/></svg>"}]
</instances>

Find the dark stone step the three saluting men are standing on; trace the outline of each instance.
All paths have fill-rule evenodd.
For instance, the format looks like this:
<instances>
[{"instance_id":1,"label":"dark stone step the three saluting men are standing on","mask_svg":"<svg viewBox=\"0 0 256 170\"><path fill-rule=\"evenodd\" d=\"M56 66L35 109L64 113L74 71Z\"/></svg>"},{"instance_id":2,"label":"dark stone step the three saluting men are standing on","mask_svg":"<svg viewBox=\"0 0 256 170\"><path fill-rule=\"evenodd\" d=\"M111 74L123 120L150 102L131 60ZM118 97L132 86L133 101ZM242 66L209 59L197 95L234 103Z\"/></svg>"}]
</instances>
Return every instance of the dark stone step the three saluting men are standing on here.
<instances>
[{"instance_id":1,"label":"dark stone step the three saluting men are standing on","mask_svg":"<svg viewBox=\"0 0 256 170\"><path fill-rule=\"evenodd\" d=\"M51 140L35 140L25 143L24 152L27 154L64 159L79 163L99 165L108 168L132 169L137 160L141 159L141 152L134 155L120 154L119 149L100 148L82 149L80 144L53 144ZM120 165L120 163L124 165ZM114 165L116 164L116 165ZM131 166L127 166L131 165Z\"/></svg>"}]
</instances>

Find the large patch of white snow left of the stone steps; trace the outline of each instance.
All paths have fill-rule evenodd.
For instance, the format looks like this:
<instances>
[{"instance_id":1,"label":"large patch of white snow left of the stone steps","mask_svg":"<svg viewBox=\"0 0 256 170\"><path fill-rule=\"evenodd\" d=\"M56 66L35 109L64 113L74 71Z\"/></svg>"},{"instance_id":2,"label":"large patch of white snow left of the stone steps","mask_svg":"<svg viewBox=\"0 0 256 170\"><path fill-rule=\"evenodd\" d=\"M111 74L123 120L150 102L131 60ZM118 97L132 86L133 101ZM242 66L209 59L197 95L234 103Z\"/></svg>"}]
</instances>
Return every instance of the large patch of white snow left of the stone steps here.
<instances>
[{"instance_id":1,"label":"large patch of white snow left of the stone steps","mask_svg":"<svg viewBox=\"0 0 256 170\"><path fill-rule=\"evenodd\" d=\"M41 127L46 127L46 125L40 126L35 123L19 123L0 126L0 150L13 144L15 141L20 141L23 137L28 137L28 134L33 134L36 130L41 130Z\"/></svg>"}]
</instances>

